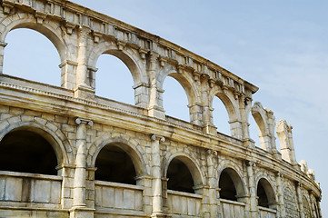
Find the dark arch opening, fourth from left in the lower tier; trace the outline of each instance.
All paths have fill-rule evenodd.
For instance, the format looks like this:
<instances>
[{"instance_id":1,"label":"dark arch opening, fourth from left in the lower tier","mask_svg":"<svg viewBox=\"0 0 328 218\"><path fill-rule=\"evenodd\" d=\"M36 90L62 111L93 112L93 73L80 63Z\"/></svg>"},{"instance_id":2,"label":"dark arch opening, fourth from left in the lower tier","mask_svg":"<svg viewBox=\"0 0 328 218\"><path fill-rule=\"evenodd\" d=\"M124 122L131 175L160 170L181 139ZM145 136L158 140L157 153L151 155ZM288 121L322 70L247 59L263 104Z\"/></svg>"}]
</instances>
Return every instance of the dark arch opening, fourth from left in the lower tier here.
<instances>
[{"instance_id":1,"label":"dark arch opening, fourth from left in the lower tier","mask_svg":"<svg viewBox=\"0 0 328 218\"><path fill-rule=\"evenodd\" d=\"M232 168L226 168L219 179L220 198L237 202L244 196L244 184Z\"/></svg>"}]
</instances>

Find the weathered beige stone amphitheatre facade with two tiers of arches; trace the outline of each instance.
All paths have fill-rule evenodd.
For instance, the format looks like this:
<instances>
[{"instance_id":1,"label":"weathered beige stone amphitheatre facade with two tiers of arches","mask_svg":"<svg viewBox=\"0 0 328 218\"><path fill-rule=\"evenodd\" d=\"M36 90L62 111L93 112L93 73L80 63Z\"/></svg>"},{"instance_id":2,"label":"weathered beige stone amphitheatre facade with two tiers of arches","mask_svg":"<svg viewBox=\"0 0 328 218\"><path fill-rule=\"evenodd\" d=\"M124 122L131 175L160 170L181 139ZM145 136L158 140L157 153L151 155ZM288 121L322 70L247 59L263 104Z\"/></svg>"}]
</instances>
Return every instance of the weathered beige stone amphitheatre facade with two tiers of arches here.
<instances>
[{"instance_id":1,"label":"weathered beige stone amphitheatre facade with two tiers of arches","mask_svg":"<svg viewBox=\"0 0 328 218\"><path fill-rule=\"evenodd\" d=\"M0 217L322 217L292 126L252 103L256 86L81 5L0 2ZM3 72L5 38L16 28L55 45L61 87ZM101 54L130 69L134 105L94 94ZM190 122L164 114L167 76L183 86ZM214 97L226 107L229 136L213 124Z\"/></svg>"}]
</instances>

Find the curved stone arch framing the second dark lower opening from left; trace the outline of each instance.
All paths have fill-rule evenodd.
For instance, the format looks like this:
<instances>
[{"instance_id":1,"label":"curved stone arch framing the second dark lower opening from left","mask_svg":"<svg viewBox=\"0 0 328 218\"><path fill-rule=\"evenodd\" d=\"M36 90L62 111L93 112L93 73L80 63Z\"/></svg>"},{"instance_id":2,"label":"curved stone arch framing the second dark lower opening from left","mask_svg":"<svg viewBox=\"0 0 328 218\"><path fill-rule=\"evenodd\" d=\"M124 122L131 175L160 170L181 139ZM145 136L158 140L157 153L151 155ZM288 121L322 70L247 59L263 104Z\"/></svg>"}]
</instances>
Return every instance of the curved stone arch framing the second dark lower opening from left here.
<instances>
[{"instance_id":1,"label":"curved stone arch framing the second dark lower opening from left","mask_svg":"<svg viewBox=\"0 0 328 218\"><path fill-rule=\"evenodd\" d=\"M107 137L101 138L100 140L96 140L95 142L99 142L92 146L93 148L89 149L89 153L91 155L91 160L87 162L90 166L94 167L96 158L100 151L104 148L104 146L108 144L114 144L115 146L121 148L126 154L129 155L132 162L134 163L134 169L136 176L141 176L148 173L146 162L144 161L143 155L136 149L137 144L132 143L132 141L128 141L123 137Z\"/></svg>"}]
</instances>

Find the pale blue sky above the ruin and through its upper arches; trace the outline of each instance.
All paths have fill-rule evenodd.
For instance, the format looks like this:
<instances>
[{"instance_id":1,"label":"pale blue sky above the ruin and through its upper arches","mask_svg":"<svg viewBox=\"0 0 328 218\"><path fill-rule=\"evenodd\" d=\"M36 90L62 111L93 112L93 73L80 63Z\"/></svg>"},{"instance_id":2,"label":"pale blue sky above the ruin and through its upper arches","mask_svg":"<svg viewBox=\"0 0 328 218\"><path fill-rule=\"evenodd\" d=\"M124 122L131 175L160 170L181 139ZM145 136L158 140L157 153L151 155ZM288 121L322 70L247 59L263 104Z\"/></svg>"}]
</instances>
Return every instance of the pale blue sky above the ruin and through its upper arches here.
<instances>
[{"instance_id":1,"label":"pale blue sky above the ruin and through its upper arches","mask_svg":"<svg viewBox=\"0 0 328 218\"><path fill-rule=\"evenodd\" d=\"M321 203L323 217L328 216L327 1L76 0L75 2L181 45L257 85L260 89L253 95L254 101L259 101L264 107L273 110L276 121L284 118L288 124L293 125L296 159L298 162L302 159L306 160L308 166L314 169L316 179L321 183L323 190ZM25 74L35 75L35 80L45 79L44 82L49 83L51 80L53 84L59 84L57 65L60 61L55 47L42 35L33 35L30 32L15 30L8 35L6 42L9 44L5 48L5 74L11 72L15 74L15 71L16 74L27 72L29 68L29 73ZM22 40L23 34L31 35L28 41ZM49 58L55 63L55 68L52 68L54 79L48 74L42 76L35 73L49 72L49 64L45 64L42 68L35 59L32 60L32 63L35 61L35 65L30 64L30 57L34 55L25 54L23 47L35 45L35 42L42 45L39 50L33 49L34 55L41 55L45 58L43 61L45 63L50 64L47 62ZM45 48L46 54L43 52ZM11 50L17 51L17 49L21 51L22 56L18 56L16 52L11 54ZM17 65L15 61L11 61L17 58L21 63L26 59L26 64ZM109 56L102 56L97 63L99 78L110 59ZM122 64L118 66L117 71L122 67L124 68ZM126 84L124 87L130 92L126 93L124 101L133 104L132 78L127 71L122 74L125 76L118 79L122 80L122 84ZM98 86L105 88L120 84L117 81L112 84L102 84L104 81L105 79L98 79L96 82ZM187 101L183 89L170 79L165 81L164 89L164 107L167 113L187 119L185 106ZM98 89L97 94L106 95L104 89ZM113 95L113 98L118 100L122 96ZM174 102L177 98L184 100ZM170 109L172 105L179 105L182 110L174 111ZM216 108L215 117L219 116L218 111ZM221 119L227 120L226 114L223 118L216 118L216 122ZM224 125L227 126L225 122ZM256 137L256 128L253 125L251 127L252 136Z\"/></svg>"}]
</instances>

